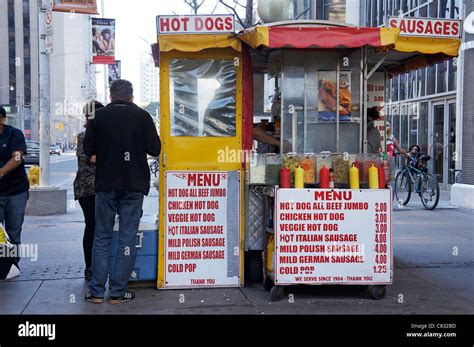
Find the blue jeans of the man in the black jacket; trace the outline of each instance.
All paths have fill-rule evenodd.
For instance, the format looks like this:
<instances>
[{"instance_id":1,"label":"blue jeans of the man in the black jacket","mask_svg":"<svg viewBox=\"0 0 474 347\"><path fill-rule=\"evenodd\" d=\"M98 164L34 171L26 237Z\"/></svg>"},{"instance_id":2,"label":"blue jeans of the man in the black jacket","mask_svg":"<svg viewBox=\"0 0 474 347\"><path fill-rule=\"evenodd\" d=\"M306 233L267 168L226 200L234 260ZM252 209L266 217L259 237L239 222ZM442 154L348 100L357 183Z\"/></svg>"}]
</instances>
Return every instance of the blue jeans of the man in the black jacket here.
<instances>
[{"instance_id":1,"label":"blue jeans of the man in the black jacket","mask_svg":"<svg viewBox=\"0 0 474 347\"><path fill-rule=\"evenodd\" d=\"M113 297L122 297L137 255L136 238L140 227L144 195L132 191L99 192L95 196L95 236L92 248L92 279L90 292L104 297L105 284L110 275ZM112 233L115 216L119 215L119 242L115 269L109 274Z\"/></svg>"}]
</instances>

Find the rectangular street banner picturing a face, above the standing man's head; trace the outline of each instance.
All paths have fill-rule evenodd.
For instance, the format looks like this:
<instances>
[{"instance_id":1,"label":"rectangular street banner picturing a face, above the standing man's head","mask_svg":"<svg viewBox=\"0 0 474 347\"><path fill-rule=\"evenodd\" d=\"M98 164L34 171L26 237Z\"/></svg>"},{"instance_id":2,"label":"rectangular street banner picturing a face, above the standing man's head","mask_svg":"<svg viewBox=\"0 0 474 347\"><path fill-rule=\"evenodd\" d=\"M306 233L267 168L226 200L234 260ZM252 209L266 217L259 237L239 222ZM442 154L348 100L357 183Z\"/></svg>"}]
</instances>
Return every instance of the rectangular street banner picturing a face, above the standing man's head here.
<instances>
[{"instance_id":1,"label":"rectangular street banner picturing a face, above the standing man's head","mask_svg":"<svg viewBox=\"0 0 474 347\"><path fill-rule=\"evenodd\" d=\"M115 64L115 19L92 18L92 63Z\"/></svg>"}]
</instances>

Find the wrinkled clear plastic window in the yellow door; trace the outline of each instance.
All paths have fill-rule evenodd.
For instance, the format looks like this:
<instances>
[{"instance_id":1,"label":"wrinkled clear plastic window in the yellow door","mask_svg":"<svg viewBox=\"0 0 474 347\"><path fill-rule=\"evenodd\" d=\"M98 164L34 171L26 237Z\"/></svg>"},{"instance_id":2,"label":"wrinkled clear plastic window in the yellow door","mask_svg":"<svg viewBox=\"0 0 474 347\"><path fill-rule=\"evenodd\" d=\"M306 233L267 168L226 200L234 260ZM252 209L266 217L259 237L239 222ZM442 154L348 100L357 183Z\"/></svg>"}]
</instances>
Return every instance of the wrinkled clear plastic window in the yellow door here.
<instances>
[{"instance_id":1,"label":"wrinkled clear plastic window in the yellow door","mask_svg":"<svg viewBox=\"0 0 474 347\"><path fill-rule=\"evenodd\" d=\"M171 136L236 136L233 61L170 61Z\"/></svg>"}]
</instances>

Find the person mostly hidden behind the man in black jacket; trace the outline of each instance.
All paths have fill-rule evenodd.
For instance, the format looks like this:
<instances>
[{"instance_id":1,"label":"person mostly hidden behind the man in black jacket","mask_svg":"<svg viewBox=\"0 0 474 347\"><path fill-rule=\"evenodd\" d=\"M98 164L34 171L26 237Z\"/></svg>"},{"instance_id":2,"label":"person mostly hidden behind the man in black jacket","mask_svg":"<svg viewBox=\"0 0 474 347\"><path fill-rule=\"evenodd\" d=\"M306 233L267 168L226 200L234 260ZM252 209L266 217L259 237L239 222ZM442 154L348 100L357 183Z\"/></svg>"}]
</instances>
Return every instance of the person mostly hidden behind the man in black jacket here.
<instances>
[{"instance_id":1,"label":"person mostly hidden behind the man in black jacket","mask_svg":"<svg viewBox=\"0 0 474 347\"><path fill-rule=\"evenodd\" d=\"M83 113L86 118L84 127L87 129L94 117L95 111L103 108L98 101L92 101L84 106ZM95 232L95 161L96 157L89 157L84 152L85 131L77 136L77 164L78 170L74 180L74 199L79 201L82 213L84 214L85 229L82 239L82 248L84 250L84 261L86 268L84 277L86 281L91 280L92 274L92 246L94 243Z\"/></svg>"}]
</instances>

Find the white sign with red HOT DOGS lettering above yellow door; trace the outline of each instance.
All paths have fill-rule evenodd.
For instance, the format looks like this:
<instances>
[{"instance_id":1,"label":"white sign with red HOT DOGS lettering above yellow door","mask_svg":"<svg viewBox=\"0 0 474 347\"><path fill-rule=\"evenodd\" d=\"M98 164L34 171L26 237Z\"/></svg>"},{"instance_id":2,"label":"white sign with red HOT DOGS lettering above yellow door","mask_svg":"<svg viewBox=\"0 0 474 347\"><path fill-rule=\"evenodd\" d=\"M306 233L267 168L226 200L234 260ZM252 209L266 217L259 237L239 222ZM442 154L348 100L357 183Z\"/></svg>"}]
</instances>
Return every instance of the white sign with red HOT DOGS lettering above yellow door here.
<instances>
[{"instance_id":1,"label":"white sign with red HOT DOGS lettering above yellow door","mask_svg":"<svg viewBox=\"0 0 474 347\"><path fill-rule=\"evenodd\" d=\"M158 34L209 34L235 31L233 15L158 16Z\"/></svg>"}]
</instances>

